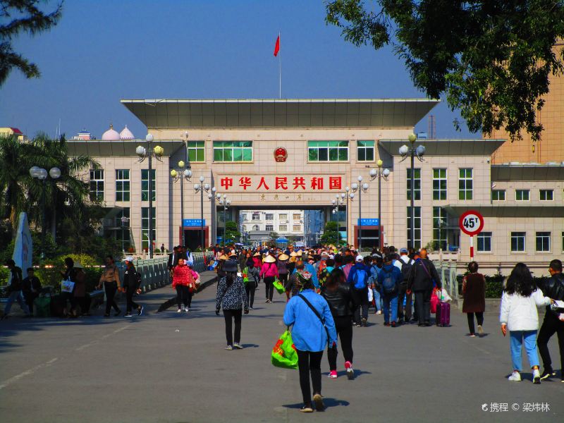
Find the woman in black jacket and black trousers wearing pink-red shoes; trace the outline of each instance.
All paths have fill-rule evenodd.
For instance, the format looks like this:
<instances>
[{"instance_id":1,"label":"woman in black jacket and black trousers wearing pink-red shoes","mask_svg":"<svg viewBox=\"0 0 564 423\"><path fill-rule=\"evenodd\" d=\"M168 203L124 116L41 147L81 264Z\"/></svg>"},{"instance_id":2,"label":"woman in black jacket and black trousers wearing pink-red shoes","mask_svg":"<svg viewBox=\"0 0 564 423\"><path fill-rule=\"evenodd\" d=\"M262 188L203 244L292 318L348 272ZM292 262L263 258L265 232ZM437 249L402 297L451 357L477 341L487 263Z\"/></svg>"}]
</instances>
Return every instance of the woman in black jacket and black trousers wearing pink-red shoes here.
<instances>
[{"instance_id":1,"label":"woman in black jacket and black trousers wearing pink-red shoes","mask_svg":"<svg viewBox=\"0 0 564 423\"><path fill-rule=\"evenodd\" d=\"M353 299L350 295L350 286L345 278L345 272L341 269L333 269L321 288L321 295L329 304L337 336L341 338L341 348L345 356L345 369L348 379L355 378L353 370ZM337 345L329 348L327 352L329 359L329 377L337 378Z\"/></svg>"}]
</instances>

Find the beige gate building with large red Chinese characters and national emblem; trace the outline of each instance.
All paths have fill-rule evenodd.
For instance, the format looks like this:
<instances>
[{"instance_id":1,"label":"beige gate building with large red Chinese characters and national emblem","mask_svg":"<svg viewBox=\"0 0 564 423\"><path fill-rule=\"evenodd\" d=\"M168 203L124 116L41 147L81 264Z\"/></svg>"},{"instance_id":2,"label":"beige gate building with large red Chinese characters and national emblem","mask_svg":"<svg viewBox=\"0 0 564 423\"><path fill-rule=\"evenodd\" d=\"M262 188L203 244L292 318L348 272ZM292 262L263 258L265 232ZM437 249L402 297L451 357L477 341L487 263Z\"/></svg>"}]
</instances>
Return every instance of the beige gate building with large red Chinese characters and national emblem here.
<instances>
[{"instance_id":1,"label":"beige gate building with large red Chinese characters and national emblem","mask_svg":"<svg viewBox=\"0 0 564 423\"><path fill-rule=\"evenodd\" d=\"M437 104L434 100L140 99L122 103L147 126L153 145L164 147L162 161L153 159L155 247L178 244L183 229L189 245L200 245L202 223L204 243L214 243L223 226L217 194L222 201L223 195L229 200L227 220L237 220L241 210L250 209L322 209L330 219L331 200L347 187L353 188L359 176L361 187L367 184L367 190L356 190L348 207L339 208L341 231L348 241L358 245L362 222L363 247L408 244L410 159L404 160L398 150L410 144L408 135ZM563 164L494 165L492 157L504 142L415 142L415 147L426 147L424 161L415 160L416 247L442 247L443 258L467 262L470 240L460 235L458 217L475 209L485 218L482 235L474 238L474 250L489 268L486 273L521 260L544 269L550 259L562 254ZM91 185L95 190L102 183L101 195L109 209L106 230L120 239L127 233L132 247L145 249L147 160L139 162L135 154L137 145L147 147L145 140L70 141L69 145L73 154L91 154L102 166L102 173L91 173L94 182L99 180ZM369 173L379 159L391 171L388 180L381 180L382 237L377 220L378 180L371 180ZM184 225L180 224L180 183L169 176L172 168L178 170L180 160L193 175L184 183ZM200 176L209 185L204 195L193 188ZM529 190L528 197L524 190ZM121 217L125 214L129 228L124 230Z\"/></svg>"}]
</instances>

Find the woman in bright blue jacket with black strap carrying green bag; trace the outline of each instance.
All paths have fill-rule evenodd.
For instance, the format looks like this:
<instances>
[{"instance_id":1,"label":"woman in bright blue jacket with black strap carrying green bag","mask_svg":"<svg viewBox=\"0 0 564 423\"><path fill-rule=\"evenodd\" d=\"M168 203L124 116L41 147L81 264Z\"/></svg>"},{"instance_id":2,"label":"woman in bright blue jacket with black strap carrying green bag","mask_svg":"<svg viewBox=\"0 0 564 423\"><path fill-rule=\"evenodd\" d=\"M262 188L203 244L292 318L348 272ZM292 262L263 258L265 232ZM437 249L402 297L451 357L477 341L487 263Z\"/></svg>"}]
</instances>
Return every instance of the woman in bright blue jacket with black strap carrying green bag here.
<instances>
[{"instance_id":1,"label":"woman in bright blue jacket with black strap carrying green bag","mask_svg":"<svg viewBox=\"0 0 564 423\"><path fill-rule=\"evenodd\" d=\"M304 400L304 406L300 411L313 411L309 374L312 378L315 409L322 411L325 406L321 397L321 358L328 341L329 345L336 345L337 332L329 305L325 298L315 293L312 275L306 271L298 277L302 284L302 292L292 297L286 305L284 324L293 325L292 339L298 353L300 388Z\"/></svg>"}]
</instances>

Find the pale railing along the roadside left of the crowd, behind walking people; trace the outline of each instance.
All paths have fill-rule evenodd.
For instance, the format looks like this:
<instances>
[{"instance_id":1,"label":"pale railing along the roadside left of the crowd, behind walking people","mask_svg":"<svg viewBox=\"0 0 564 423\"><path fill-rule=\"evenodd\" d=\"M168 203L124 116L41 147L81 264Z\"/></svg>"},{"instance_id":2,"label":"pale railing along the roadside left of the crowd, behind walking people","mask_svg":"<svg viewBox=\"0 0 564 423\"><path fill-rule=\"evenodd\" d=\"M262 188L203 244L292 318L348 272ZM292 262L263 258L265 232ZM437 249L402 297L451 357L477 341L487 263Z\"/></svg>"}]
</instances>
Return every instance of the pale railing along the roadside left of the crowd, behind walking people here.
<instances>
[{"instance_id":1,"label":"pale railing along the roadside left of the crowd, behind walking people","mask_svg":"<svg viewBox=\"0 0 564 423\"><path fill-rule=\"evenodd\" d=\"M204 263L204 253L203 252L192 252L194 256L194 270L198 273L206 270L206 264ZM205 253L207 257L207 263L214 257L212 252ZM136 259L133 262L135 269L141 274L141 290L142 292L147 292L149 290L160 288L161 286L168 285L170 283L170 274L166 266L168 262L168 256L155 257L153 259ZM123 273L125 272L125 263L118 262L116 266L119 270L119 276L121 281L123 281Z\"/></svg>"}]
</instances>

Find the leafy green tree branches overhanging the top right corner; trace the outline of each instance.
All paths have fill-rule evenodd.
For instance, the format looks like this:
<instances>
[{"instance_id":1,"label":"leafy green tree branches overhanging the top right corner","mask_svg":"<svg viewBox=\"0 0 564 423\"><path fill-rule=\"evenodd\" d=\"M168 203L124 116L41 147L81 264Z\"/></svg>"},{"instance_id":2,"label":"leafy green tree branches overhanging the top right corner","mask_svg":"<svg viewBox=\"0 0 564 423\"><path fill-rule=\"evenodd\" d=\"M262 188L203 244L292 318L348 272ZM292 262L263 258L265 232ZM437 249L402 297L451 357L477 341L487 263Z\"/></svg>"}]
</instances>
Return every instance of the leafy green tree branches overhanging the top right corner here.
<instances>
[{"instance_id":1,"label":"leafy green tree branches overhanging the top right corner","mask_svg":"<svg viewBox=\"0 0 564 423\"><path fill-rule=\"evenodd\" d=\"M472 132L526 130L539 140L536 112L548 75L563 71L564 1L558 0L326 1L326 23L345 40L380 49L393 43L411 78L429 97L446 95ZM458 122L455 126L459 128Z\"/></svg>"}]
</instances>

